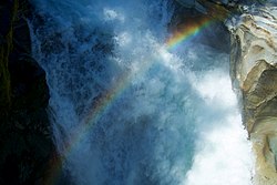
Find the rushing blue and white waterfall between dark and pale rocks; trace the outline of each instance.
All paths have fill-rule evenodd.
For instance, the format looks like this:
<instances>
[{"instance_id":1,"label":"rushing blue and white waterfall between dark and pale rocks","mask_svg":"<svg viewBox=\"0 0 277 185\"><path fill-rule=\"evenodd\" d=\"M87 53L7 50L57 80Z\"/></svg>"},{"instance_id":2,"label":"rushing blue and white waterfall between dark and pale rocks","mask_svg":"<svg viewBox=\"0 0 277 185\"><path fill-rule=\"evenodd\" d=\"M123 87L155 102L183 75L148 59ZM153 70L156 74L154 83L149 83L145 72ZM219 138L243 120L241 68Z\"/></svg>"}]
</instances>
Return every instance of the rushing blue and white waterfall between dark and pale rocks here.
<instances>
[{"instance_id":1,"label":"rushing blue and white waterfall between dark and pale rocks","mask_svg":"<svg viewBox=\"0 0 277 185\"><path fill-rule=\"evenodd\" d=\"M228 54L166 45L166 0L31 0L57 148L72 184L249 185Z\"/></svg>"}]
</instances>

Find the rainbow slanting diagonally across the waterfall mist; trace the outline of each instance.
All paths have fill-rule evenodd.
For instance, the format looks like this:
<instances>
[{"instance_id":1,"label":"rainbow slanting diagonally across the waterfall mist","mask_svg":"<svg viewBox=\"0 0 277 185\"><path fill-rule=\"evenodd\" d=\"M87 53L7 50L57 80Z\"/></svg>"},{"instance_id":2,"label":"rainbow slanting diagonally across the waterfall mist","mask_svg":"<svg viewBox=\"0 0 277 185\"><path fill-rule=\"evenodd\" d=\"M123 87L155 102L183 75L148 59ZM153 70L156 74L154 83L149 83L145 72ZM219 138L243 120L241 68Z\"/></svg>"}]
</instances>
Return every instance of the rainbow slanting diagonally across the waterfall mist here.
<instances>
[{"instance_id":1,"label":"rainbow slanting diagonally across the waterfall mist","mask_svg":"<svg viewBox=\"0 0 277 185\"><path fill-rule=\"evenodd\" d=\"M175 49L179 43L188 40L192 37L198 34L204 28L211 24L212 20L203 19L201 21L189 23L183 29L177 30L173 35L166 41L165 47L167 50ZM144 60L135 74L124 73L117 80L117 83L104 95L99 97L92 104L92 109L89 111L88 115L83 119L82 124L80 124L75 132L71 135L68 143L65 143L62 151L60 151L61 156L55 156L51 164L48 177L45 179L47 184L57 184L59 176L62 174L62 165L65 158L73 152L82 138L91 131L93 125L112 107L114 102L130 88L132 81L137 76L142 75L153 65L155 60L148 59Z\"/></svg>"}]
</instances>

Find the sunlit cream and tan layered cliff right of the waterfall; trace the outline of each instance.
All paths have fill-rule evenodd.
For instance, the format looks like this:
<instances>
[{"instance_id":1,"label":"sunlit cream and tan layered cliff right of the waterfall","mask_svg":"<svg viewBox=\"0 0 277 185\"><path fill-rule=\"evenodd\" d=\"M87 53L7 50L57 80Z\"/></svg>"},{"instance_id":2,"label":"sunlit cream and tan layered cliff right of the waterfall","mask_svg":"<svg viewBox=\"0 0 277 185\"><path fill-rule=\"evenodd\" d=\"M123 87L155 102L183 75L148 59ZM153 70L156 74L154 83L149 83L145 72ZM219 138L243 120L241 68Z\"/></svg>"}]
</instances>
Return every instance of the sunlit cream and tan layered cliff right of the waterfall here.
<instances>
[{"instance_id":1,"label":"sunlit cream and tan layered cliff right of the waterfall","mask_svg":"<svg viewBox=\"0 0 277 185\"><path fill-rule=\"evenodd\" d=\"M277 184L277 7L246 10L229 22L230 74L256 155L254 184Z\"/></svg>"}]
</instances>

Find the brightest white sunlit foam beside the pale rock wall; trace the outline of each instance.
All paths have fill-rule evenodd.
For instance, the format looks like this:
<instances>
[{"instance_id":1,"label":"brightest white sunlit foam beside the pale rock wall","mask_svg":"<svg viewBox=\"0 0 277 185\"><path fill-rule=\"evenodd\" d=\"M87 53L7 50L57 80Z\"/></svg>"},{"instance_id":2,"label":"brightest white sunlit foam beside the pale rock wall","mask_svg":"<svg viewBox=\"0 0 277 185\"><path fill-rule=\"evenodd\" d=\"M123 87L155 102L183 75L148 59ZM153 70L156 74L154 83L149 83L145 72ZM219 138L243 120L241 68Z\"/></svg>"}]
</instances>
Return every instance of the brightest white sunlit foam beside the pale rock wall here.
<instances>
[{"instance_id":1,"label":"brightest white sunlit foam beside the pale rock wall","mask_svg":"<svg viewBox=\"0 0 277 185\"><path fill-rule=\"evenodd\" d=\"M254 172L252 146L243 129L229 78L224 71L208 71L198 79L194 78L194 86L212 111L199 115L201 122L208 126L199 134L185 184L250 185ZM219 115L211 120L211 112Z\"/></svg>"}]
</instances>

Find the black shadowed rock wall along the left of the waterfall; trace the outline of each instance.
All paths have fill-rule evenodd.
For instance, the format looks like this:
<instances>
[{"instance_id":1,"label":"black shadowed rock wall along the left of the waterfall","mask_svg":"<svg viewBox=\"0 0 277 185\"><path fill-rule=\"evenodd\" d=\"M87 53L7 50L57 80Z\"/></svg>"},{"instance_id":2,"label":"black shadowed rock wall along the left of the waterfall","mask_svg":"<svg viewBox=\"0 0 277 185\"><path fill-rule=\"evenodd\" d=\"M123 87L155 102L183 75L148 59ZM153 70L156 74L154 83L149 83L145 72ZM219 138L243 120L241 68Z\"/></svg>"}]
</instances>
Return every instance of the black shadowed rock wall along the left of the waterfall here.
<instances>
[{"instance_id":1,"label":"black shadowed rock wall along the left of the waterfall","mask_svg":"<svg viewBox=\"0 0 277 185\"><path fill-rule=\"evenodd\" d=\"M45 184L55 156L44 71L31 58L27 0L0 2L0 184Z\"/></svg>"}]
</instances>

